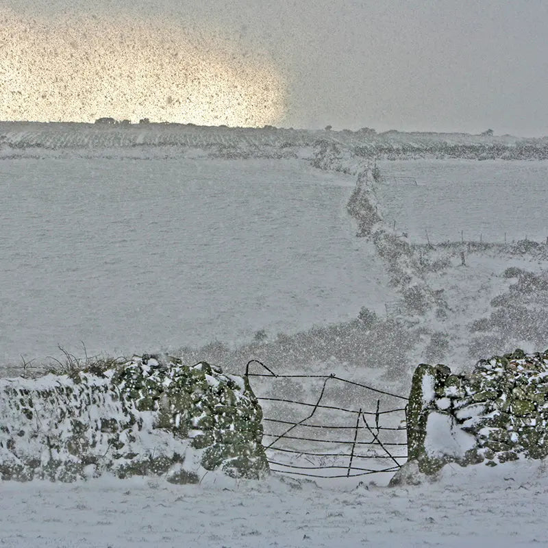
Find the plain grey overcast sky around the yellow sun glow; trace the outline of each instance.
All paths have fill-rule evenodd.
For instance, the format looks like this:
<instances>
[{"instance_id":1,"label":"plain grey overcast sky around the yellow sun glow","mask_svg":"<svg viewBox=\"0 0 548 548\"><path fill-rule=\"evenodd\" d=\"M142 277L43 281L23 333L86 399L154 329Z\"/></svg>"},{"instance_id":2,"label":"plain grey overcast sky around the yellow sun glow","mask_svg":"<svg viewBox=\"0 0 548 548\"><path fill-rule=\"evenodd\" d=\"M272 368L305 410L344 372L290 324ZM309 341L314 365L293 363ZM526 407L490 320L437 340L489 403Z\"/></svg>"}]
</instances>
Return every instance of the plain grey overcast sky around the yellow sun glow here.
<instances>
[{"instance_id":1,"label":"plain grey overcast sky around the yellow sun glow","mask_svg":"<svg viewBox=\"0 0 548 548\"><path fill-rule=\"evenodd\" d=\"M548 134L547 0L4 0L223 33L284 74L279 125ZM125 5L127 4L127 5Z\"/></svg>"}]
</instances>

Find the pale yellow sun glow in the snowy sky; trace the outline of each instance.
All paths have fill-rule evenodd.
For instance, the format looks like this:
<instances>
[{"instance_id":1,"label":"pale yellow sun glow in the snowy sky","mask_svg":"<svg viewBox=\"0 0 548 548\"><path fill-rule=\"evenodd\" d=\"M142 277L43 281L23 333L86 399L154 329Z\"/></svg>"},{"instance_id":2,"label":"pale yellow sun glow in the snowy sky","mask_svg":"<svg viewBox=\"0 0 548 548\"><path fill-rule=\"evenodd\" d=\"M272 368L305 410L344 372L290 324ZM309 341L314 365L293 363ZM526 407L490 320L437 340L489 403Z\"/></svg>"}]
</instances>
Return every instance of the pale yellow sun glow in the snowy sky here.
<instances>
[{"instance_id":1,"label":"pale yellow sun glow in the snowy sky","mask_svg":"<svg viewBox=\"0 0 548 548\"><path fill-rule=\"evenodd\" d=\"M261 126L285 108L282 70L219 29L0 12L0 120Z\"/></svg>"}]
</instances>

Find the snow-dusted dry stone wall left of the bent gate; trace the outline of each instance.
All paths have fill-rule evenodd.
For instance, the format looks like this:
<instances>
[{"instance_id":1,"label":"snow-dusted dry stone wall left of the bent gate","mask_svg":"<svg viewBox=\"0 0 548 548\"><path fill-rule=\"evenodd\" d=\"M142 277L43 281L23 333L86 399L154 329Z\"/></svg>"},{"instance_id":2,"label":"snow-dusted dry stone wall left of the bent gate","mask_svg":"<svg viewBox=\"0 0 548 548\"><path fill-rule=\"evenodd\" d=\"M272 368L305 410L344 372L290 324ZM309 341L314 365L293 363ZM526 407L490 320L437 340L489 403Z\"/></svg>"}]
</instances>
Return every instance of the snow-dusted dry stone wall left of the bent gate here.
<instances>
[{"instance_id":1,"label":"snow-dusted dry stone wall left of the bent gate","mask_svg":"<svg viewBox=\"0 0 548 548\"><path fill-rule=\"evenodd\" d=\"M105 371L0 380L0 477L260 477L262 410L245 377L143 356Z\"/></svg>"}]
</instances>

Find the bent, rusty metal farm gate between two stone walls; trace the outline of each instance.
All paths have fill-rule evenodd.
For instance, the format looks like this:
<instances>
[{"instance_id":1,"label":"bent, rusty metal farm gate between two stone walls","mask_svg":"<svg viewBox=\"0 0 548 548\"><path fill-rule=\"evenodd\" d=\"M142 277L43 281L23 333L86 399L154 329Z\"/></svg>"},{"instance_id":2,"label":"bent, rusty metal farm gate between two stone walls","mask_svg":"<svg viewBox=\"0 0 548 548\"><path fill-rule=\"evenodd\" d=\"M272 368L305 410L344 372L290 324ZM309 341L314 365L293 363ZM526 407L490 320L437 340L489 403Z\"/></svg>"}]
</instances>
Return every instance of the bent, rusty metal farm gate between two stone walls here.
<instances>
[{"instance_id":1,"label":"bent, rusty metal farm gate between two stone walls","mask_svg":"<svg viewBox=\"0 0 548 548\"><path fill-rule=\"evenodd\" d=\"M251 364L267 373L250 373ZM332 375L277 375L247 363L264 412L271 471L309 477L395 473L407 460L408 398Z\"/></svg>"}]
</instances>

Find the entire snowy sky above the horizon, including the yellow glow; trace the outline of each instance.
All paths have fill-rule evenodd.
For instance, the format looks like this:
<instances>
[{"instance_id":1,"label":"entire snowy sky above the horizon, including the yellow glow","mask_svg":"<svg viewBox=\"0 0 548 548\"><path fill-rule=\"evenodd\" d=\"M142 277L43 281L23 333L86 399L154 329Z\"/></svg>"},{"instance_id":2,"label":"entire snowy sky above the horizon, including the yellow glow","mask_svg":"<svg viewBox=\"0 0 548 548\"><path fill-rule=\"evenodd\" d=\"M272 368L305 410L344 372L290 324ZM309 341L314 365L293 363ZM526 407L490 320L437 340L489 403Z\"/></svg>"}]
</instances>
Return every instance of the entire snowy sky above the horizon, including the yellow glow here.
<instances>
[{"instance_id":1,"label":"entire snowy sky above the horizon, including the yellow glow","mask_svg":"<svg viewBox=\"0 0 548 548\"><path fill-rule=\"evenodd\" d=\"M0 119L543 136L548 1L0 0Z\"/></svg>"}]
</instances>

